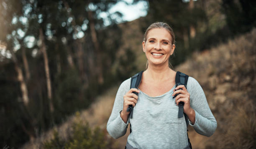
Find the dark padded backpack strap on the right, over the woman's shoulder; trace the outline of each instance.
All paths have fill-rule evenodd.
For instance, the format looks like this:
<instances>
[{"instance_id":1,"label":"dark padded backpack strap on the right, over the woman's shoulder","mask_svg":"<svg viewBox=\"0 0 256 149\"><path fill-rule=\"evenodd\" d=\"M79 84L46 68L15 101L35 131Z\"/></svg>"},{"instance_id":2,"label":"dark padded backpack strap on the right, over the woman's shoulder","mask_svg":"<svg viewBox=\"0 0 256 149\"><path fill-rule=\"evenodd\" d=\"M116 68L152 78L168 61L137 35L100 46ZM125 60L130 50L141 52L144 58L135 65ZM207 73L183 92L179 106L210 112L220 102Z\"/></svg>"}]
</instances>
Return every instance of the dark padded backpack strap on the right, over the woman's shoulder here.
<instances>
[{"instance_id":1,"label":"dark padded backpack strap on the right, over the woman's shoulder","mask_svg":"<svg viewBox=\"0 0 256 149\"><path fill-rule=\"evenodd\" d=\"M187 88L187 79L188 79L188 75L182 73L182 72L177 72L176 76L175 76L175 87L179 86L179 85L184 85ZM174 98L177 96L178 94L176 94L174 96ZM184 106L184 102L179 102L179 112L178 112L178 118L183 117L183 106Z\"/></svg>"}]
</instances>

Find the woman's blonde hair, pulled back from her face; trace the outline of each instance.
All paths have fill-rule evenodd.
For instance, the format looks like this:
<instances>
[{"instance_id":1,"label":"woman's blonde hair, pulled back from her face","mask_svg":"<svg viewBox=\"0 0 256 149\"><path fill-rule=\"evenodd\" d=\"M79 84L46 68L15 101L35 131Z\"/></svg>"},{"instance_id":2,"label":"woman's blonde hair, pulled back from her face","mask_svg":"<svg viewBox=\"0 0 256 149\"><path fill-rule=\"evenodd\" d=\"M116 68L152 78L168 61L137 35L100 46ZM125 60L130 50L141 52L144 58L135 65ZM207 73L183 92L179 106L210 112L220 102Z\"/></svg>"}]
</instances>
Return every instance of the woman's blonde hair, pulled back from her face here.
<instances>
[{"instance_id":1,"label":"woman's blonde hair, pulled back from her face","mask_svg":"<svg viewBox=\"0 0 256 149\"><path fill-rule=\"evenodd\" d=\"M164 28L166 29L170 35L172 36L172 45L175 44L175 35L174 35L174 32L172 30L172 27L170 27L167 23L165 22L154 22L152 23L151 25L149 25L149 27L147 28L146 32L144 33L144 36L143 36L143 41L146 42L147 40L147 35L148 35L148 32L152 29L155 29L155 28ZM173 53L174 55L174 53ZM173 69L172 67L172 64L171 64L171 56L169 57L169 63L168 63L168 66ZM146 69L148 68L148 61L146 63Z\"/></svg>"}]
</instances>

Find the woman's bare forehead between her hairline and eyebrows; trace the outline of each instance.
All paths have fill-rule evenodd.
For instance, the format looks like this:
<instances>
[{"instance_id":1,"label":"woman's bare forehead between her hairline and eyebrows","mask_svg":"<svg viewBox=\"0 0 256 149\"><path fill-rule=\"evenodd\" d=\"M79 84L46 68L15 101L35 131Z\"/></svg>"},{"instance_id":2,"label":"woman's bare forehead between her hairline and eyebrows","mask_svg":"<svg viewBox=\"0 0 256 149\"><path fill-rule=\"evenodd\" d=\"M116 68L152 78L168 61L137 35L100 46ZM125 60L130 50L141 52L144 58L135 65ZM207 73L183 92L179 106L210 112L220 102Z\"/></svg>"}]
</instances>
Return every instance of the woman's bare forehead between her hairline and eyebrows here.
<instances>
[{"instance_id":1,"label":"woman's bare forehead between her hairline and eyebrows","mask_svg":"<svg viewBox=\"0 0 256 149\"><path fill-rule=\"evenodd\" d=\"M149 38L160 38L172 41L172 35L164 28L154 28L148 31L147 39Z\"/></svg>"}]
</instances>

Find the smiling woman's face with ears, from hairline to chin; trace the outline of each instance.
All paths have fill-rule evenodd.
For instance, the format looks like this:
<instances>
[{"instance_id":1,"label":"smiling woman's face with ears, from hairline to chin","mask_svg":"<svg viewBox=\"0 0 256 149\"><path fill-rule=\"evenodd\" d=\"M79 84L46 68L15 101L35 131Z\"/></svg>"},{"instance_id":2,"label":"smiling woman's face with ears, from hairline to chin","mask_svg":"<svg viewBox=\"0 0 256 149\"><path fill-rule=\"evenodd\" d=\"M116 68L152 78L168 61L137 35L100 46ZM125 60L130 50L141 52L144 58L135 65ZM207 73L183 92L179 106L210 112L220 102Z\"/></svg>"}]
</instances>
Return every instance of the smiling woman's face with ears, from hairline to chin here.
<instances>
[{"instance_id":1,"label":"smiling woman's face with ears, from hairline to chin","mask_svg":"<svg viewBox=\"0 0 256 149\"><path fill-rule=\"evenodd\" d=\"M148 65L167 65L175 45L172 44L171 34L164 28L148 31L146 41L142 42L143 51L148 59Z\"/></svg>"}]
</instances>

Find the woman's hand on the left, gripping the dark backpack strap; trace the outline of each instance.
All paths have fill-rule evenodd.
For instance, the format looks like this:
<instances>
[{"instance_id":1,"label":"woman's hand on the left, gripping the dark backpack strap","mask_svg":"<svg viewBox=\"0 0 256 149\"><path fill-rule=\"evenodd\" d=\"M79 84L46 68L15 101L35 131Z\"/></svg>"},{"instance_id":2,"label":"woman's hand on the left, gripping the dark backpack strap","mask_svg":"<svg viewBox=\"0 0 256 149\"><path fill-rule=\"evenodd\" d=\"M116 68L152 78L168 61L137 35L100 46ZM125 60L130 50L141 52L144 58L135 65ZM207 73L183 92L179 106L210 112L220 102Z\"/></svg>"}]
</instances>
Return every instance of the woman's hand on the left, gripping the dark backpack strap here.
<instances>
[{"instance_id":1,"label":"woman's hand on the left, gripping the dark backpack strap","mask_svg":"<svg viewBox=\"0 0 256 149\"><path fill-rule=\"evenodd\" d=\"M133 92L139 93L140 91L138 89L132 88L130 89L124 96L123 96L123 114L128 115L130 111L126 111L129 105L133 105L133 107L136 105L138 96L136 94L133 94Z\"/></svg>"}]
</instances>

